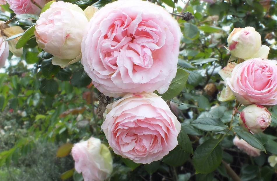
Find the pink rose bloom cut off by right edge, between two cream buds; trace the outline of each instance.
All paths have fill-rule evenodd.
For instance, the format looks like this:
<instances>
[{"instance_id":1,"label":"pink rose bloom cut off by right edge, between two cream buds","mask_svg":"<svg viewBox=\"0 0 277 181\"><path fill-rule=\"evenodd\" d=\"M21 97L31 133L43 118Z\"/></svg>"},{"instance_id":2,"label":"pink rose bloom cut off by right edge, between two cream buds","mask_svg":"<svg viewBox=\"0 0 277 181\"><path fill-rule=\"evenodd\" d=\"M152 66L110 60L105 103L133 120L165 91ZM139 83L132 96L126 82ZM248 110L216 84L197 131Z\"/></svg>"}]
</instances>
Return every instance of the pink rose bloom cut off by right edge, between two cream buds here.
<instances>
[{"instance_id":1,"label":"pink rose bloom cut off by right edge, between two cream buds","mask_svg":"<svg viewBox=\"0 0 277 181\"><path fill-rule=\"evenodd\" d=\"M236 99L244 104L277 104L277 61L249 59L235 66L226 79Z\"/></svg>"}]
</instances>

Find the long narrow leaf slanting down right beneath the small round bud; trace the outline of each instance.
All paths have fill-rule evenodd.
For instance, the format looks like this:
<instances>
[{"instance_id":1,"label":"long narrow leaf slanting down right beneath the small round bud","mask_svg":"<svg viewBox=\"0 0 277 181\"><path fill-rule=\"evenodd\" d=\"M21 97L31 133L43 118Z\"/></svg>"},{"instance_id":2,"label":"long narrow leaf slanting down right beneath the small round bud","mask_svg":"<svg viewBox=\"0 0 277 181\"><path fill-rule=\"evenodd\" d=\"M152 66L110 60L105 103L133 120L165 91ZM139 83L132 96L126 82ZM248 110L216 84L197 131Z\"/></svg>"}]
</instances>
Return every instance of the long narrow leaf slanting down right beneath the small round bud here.
<instances>
[{"instance_id":1,"label":"long narrow leaf slanting down right beneath the small round bud","mask_svg":"<svg viewBox=\"0 0 277 181\"><path fill-rule=\"evenodd\" d=\"M264 145L257 138L255 138L252 134L244 131L240 126L233 127L233 130L236 132L237 135L239 135L239 137L241 137L251 146L259 150L265 150Z\"/></svg>"}]
</instances>

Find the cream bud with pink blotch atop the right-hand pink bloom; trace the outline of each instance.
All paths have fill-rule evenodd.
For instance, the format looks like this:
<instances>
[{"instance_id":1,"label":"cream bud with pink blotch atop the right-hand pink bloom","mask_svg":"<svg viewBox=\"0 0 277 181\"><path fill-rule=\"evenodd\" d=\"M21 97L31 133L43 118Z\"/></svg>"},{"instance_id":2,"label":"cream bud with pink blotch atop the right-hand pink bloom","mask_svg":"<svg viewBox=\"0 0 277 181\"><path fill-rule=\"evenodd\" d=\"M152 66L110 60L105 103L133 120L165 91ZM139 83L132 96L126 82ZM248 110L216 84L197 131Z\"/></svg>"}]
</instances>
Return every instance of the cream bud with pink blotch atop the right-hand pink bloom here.
<instances>
[{"instance_id":1,"label":"cream bud with pink blotch atop the right-hand pink bloom","mask_svg":"<svg viewBox=\"0 0 277 181\"><path fill-rule=\"evenodd\" d=\"M261 35L253 27L234 28L227 38L228 47L234 57L241 59L267 58L269 47L262 46Z\"/></svg>"}]
</instances>

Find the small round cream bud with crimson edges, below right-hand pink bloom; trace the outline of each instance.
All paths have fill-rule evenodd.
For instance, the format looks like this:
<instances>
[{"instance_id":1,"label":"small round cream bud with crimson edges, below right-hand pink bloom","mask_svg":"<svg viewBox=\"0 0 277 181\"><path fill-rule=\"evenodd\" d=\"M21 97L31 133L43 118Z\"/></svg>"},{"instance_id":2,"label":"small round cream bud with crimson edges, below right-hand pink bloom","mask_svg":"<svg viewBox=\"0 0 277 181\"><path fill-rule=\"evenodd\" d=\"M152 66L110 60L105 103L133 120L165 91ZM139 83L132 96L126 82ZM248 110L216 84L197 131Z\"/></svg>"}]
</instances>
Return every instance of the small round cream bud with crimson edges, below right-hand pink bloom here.
<instances>
[{"instance_id":1,"label":"small round cream bud with crimson edges, below right-hand pink bloom","mask_svg":"<svg viewBox=\"0 0 277 181\"><path fill-rule=\"evenodd\" d=\"M267 129L271 122L271 113L264 106L252 104L244 108L239 115L239 123L243 129L252 134Z\"/></svg>"}]
</instances>

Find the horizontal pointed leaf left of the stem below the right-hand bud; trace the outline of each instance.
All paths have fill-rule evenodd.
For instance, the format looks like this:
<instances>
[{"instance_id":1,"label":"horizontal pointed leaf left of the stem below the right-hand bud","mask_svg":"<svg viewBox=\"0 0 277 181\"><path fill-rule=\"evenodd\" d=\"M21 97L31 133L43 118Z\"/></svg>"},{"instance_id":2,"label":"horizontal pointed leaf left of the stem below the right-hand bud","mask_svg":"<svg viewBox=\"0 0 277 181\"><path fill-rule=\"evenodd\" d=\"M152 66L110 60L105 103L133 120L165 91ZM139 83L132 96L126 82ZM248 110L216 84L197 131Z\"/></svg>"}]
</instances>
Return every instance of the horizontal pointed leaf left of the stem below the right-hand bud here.
<instances>
[{"instance_id":1,"label":"horizontal pointed leaf left of the stem below the right-hand bud","mask_svg":"<svg viewBox=\"0 0 277 181\"><path fill-rule=\"evenodd\" d=\"M204 131L223 131L228 128L228 126L226 126L218 118L211 117L199 118L194 120L191 125Z\"/></svg>"}]
</instances>

